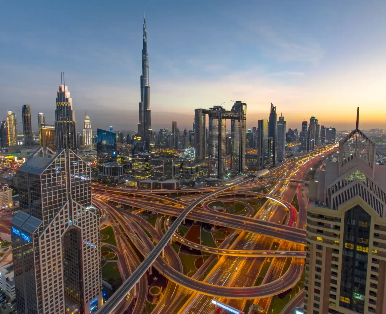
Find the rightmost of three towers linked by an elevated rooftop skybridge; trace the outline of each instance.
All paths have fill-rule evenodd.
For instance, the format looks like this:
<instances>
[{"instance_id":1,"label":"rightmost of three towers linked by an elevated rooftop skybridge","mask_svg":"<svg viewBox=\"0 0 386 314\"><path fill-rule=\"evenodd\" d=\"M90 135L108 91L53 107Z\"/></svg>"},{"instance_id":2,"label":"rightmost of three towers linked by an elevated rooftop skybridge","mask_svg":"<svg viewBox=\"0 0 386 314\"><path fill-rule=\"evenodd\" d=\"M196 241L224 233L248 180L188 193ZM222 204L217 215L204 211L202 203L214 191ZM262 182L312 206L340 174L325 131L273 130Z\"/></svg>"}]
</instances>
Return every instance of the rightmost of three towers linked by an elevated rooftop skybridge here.
<instances>
[{"instance_id":1,"label":"rightmost of three towers linked by an elevated rooftop skybridge","mask_svg":"<svg viewBox=\"0 0 386 314\"><path fill-rule=\"evenodd\" d=\"M245 127L247 104L237 101L230 110L238 119L230 119L230 170L238 173L245 169Z\"/></svg>"}]
</instances>

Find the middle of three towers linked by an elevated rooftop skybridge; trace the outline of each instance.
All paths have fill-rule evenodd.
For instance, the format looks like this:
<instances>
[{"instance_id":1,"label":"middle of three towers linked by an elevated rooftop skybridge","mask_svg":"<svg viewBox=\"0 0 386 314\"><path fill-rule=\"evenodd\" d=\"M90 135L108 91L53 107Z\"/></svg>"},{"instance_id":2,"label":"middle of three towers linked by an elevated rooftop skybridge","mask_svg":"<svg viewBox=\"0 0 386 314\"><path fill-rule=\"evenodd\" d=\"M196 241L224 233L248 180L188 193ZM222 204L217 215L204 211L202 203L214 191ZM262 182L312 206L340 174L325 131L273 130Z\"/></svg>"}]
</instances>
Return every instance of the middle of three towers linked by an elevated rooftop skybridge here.
<instances>
[{"instance_id":1,"label":"middle of three towers linked by an elevated rooftop skybridge","mask_svg":"<svg viewBox=\"0 0 386 314\"><path fill-rule=\"evenodd\" d=\"M209 178L222 177L225 174L225 133L226 120L222 115L225 109L221 106L210 108L209 130L208 130L208 159L209 159Z\"/></svg>"}]
</instances>

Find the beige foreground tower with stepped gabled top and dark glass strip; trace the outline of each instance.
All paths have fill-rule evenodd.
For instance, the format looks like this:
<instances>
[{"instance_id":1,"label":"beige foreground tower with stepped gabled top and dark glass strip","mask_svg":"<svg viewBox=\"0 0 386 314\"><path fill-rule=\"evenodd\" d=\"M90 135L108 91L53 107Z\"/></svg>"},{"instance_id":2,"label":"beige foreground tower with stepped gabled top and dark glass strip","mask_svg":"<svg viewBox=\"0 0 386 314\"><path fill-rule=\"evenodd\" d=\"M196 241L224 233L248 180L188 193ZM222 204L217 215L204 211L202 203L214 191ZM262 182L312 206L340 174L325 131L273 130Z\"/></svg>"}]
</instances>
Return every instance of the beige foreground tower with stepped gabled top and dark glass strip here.
<instances>
[{"instance_id":1,"label":"beige foreground tower with stepped gabled top and dark glass strip","mask_svg":"<svg viewBox=\"0 0 386 314\"><path fill-rule=\"evenodd\" d=\"M307 314L386 308L386 168L358 124L339 142L338 161L320 172L318 206L307 206Z\"/></svg>"}]
</instances>

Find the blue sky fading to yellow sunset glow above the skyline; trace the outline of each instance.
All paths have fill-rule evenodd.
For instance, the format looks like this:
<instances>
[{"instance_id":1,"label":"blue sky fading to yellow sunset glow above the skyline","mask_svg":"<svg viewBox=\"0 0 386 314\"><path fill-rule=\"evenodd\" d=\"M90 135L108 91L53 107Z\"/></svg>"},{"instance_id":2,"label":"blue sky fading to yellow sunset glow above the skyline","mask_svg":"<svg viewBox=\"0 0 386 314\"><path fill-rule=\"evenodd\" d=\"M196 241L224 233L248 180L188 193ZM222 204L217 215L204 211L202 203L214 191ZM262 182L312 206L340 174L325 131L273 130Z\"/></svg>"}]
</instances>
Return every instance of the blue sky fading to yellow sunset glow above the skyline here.
<instances>
[{"instance_id":1,"label":"blue sky fading to yellow sunset glow above the skyline","mask_svg":"<svg viewBox=\"0 0 386 314\"><path fill-rule=\"evenodd\" d=\"M192 129L194 109L247 104L247 128L386 129L384 1L4 1L0 119L30 104L53 124L60 72L77 128L135 130L145 5L152 129ZM230 125L230 122L227 125Z\"/></svg>"}]
</instances>

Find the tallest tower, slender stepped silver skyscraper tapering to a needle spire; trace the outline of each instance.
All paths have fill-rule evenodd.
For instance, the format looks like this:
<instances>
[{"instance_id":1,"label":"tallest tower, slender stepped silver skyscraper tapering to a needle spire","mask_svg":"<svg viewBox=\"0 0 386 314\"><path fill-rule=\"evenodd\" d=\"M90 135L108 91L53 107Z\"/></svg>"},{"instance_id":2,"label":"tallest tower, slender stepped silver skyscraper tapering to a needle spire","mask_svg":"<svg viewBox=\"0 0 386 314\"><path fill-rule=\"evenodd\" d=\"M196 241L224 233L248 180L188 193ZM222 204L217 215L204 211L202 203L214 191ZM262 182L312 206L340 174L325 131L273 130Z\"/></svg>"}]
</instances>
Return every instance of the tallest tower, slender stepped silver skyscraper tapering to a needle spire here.
<instances>
[{"instance_id":1,"label":"tallest tower, slender stepped silver skyscraper tapering to a needle spire","mask_svg":"<svg viewBox=\"0 0 386 314\"><path fill-rule=\"evenodd\" d=\"M146 139L153 148L150 110L149 54L147 53L146 20L144 16L144 34L142 48L141 102L139 103L138 134Z\"/></svg>"}]
</instances>

